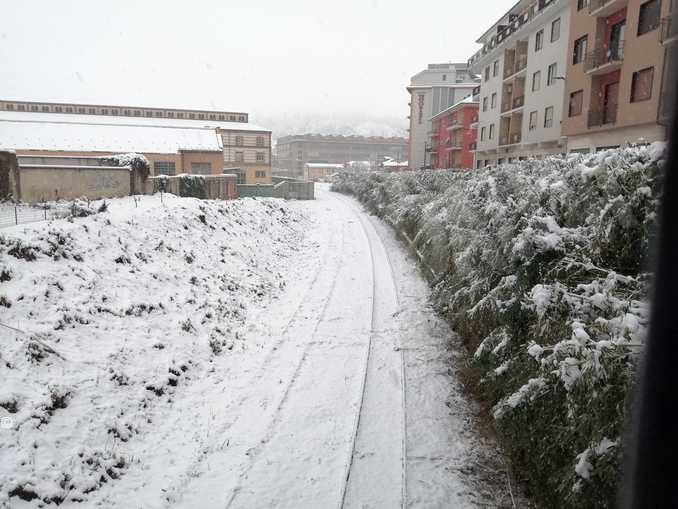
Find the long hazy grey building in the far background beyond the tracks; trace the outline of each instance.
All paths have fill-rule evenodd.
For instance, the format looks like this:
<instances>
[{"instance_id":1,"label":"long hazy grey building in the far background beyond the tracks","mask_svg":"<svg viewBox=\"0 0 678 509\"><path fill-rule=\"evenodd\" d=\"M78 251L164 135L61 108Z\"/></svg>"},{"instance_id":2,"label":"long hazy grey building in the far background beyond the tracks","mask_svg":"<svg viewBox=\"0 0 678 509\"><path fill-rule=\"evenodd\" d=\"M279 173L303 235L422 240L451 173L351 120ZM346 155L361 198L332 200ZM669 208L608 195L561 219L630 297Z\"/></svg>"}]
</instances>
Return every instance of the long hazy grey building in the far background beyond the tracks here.
<instances>
[{"instance_id":1,"label":"long hazy grey building in the far background beyond the tracks","mask_svg":"<svg viewBox=\"0 0 678 509\"><path fill-rule=\"evenodd\" d=\"M349 161L367 161L376 167L387 158L406 160L407 140L318 134L283 136L277 140L276 153L278 167L301 176L308 163L343 165Z\"/></svg>"}]
</instances>

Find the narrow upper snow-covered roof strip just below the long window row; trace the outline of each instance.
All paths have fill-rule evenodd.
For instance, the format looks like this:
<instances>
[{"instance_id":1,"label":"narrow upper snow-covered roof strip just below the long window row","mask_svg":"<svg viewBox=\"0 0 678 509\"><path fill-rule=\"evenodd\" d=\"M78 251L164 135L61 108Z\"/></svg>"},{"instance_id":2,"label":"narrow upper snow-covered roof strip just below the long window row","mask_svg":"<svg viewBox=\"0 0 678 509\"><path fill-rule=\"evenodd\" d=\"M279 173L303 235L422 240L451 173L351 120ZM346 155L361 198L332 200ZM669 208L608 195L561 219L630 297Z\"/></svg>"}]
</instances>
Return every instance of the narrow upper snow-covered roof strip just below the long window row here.
<instances>
[{"instance_id":1,"label":"narrow upper snow-covered roof strip just below the long window row","mask_svg":"<svg viewBox=\"0 0 678 509\"><path fill-rule=\"evenodd\" d=\"M230 131L271 132L270 129L249 122L223 122L219 120L188 120L182 118L124 117L114 115L80 115L73 113L40 113L33 111L0 111L0 120L50 122L68 124L104 124L153 127L182 127L193 129L225 129Z\"/></svg>"}]
</instances>

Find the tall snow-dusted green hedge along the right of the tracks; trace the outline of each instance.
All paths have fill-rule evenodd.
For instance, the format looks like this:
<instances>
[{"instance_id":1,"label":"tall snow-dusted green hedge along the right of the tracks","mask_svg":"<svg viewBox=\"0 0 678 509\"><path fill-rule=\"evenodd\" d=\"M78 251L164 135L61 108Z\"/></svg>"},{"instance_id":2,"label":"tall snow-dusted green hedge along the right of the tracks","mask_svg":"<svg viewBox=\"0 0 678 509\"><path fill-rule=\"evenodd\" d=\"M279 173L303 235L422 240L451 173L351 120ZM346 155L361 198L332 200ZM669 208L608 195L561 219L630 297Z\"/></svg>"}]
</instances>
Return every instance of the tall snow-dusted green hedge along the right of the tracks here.
<instances>
[{"instance_id":1,"label":"tall snow-dusted green hedge along the right of the tracks","mask_svg":"<svg viewBox=\"0 0 678 509\"><path fill-rule=\"evenodd\" d=\"M547 507L609 507L648 321L664 147L478 171L343 174L414 239L516 470Z\"/></svg>"}]
</instances>

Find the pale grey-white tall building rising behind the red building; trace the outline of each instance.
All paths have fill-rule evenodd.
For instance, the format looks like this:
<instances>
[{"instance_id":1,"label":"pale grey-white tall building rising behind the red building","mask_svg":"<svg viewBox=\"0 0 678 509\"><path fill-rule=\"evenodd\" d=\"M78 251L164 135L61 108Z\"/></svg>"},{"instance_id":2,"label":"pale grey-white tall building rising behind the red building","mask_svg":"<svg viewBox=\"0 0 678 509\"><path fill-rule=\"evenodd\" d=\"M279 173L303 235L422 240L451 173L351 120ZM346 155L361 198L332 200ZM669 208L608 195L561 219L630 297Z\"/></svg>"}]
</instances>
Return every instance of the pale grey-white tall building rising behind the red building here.
<instances>
[{"instance_id":1,"label":"pale grey-white tall building rising behind the red building","mask_svg":"<svg viewBox=\"0 0 678 509\"><path fill-rule=\"evenodd\" d=\"M410 94L409 162L413 170L431 164L431 117L471 95L478 86L468 64L429 64L412 76Z\"/></svg>"}]
</instances>

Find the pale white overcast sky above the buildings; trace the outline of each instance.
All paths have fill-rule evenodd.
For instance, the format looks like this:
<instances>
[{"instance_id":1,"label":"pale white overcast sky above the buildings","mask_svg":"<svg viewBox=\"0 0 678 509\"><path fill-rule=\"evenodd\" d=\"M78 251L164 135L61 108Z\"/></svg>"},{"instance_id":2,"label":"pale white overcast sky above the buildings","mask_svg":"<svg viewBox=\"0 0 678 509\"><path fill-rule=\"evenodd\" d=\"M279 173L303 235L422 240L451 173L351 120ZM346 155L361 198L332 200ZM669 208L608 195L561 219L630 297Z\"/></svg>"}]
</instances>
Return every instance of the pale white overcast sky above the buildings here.
<instances>
[{"instance_id":1,"label":"pale white overcast sky above the buildings","mask_svg":"<svg viewBox=\"0 0 678 509\"><path fill-rule=\"evenodd\" d=\"M397 118L513 0L3 0L0 97Z\"/></svg>"}]
</instances>

